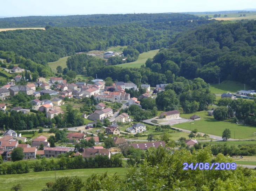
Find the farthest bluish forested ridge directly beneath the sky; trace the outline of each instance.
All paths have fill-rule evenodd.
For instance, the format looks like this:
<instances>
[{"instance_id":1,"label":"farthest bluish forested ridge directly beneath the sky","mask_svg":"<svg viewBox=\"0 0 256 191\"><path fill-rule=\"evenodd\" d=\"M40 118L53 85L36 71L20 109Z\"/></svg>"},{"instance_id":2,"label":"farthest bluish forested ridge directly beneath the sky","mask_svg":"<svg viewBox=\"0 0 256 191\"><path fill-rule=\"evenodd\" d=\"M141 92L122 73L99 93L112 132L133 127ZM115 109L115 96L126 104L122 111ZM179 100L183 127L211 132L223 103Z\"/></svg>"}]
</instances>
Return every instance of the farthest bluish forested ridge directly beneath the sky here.
<instances>
[{"instance_id":1,"label":"farthest bluish forested ridge directly beneath the sky","mask_svg":"<svg viewBox=\"0 0 256 191\"><path fill-rule=\"evenodd\" d=\"M70 16L27 16L8 17L0 19L0 28L20 27L91 27L95 25L117 25L132 22L153 23L183 20L196 20L198 16L181 13L156 14L97 14L97 15L70 15Z\"/></svg>"}]
</instances>

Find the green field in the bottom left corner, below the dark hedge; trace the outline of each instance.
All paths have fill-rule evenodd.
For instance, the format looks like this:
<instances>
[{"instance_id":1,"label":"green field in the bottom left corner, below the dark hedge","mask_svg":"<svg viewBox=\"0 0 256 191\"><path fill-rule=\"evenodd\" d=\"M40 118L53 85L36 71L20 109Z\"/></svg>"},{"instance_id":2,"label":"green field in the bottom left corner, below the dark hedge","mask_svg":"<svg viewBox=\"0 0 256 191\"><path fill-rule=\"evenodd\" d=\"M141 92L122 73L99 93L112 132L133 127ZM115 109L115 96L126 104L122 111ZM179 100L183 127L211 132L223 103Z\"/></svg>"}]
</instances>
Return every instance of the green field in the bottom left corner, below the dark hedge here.
<instances>
[{"instance_id":1,"label":"green field in the bottom left corner, below the dark hedge","mask_svg":"<svg viewBox=\"0 0 256 191\"><path fill-rule=\"evenodd\" d=\"M95 168L95 169L75 169L75 170L57 170L56 177L78 176L83 181L85 181L92 174L102 174L108 171L109 174L114 174L117 172L117 175L120 177L125 176L127 170L125 168ZM21 183L23 190L29 191L40 191L46 185L47 182L55 181L55 171L44 171L44 172L30 172L27 174L14 174L14 175L1 175L0 181L6 182L8 184L1 185L1 191L10 191L12 186L18 183Z\"/></svg>"}]
</instances>

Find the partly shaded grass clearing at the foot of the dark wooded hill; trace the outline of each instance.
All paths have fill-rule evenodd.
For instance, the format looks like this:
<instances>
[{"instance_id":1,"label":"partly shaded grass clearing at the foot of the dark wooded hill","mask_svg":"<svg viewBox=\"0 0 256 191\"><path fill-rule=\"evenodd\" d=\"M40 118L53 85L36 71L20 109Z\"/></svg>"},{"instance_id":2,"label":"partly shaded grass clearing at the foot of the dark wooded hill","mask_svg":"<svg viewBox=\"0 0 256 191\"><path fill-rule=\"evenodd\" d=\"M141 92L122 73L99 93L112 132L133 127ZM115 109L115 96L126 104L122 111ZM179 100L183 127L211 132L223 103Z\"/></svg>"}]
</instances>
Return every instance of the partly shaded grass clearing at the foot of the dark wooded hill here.
<instances>
[{"instance_id":1,"label":"partly shaded grass clearing at the foot of the dark wooded hill","mask_svg":"<svg viewBox=\"0 0 256 191\"><path fill-rule=\"evenodd\" d=\"M251 87L245 85L245 90L249 90ZM236 93L239 90L244 90L244 84L235 81L224 80L220 83L210 84L210 91L214 94L223 94L223 93Z\"/></svg>"}]
</instances>

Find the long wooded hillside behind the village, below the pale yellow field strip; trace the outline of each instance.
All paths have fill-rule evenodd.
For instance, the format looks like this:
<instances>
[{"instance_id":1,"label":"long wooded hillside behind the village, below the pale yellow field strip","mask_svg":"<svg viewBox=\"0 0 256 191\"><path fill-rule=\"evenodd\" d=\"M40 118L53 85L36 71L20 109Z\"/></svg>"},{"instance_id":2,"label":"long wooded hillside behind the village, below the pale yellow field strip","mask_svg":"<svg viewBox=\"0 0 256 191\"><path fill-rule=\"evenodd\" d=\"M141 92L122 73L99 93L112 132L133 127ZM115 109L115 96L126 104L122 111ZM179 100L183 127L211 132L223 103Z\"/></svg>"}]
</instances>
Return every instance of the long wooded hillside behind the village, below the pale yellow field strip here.
<instances>
[{"instance_id":1,"label":"long wooded hillside behind the village, below the pale yellow field strip","mask_svg":"<svg viewBox=\"0 0 256 191\"><path fill-rule=\"evenodd\" d=\"M169 45L170 37L212 20L173 21L166 23L129 23L94 27L47 27L47 30L0 32L0 51L11 51L36 63L56 61L76 52L106 50L129 45L140 53Z\"/></svg>"}]
</instances>

